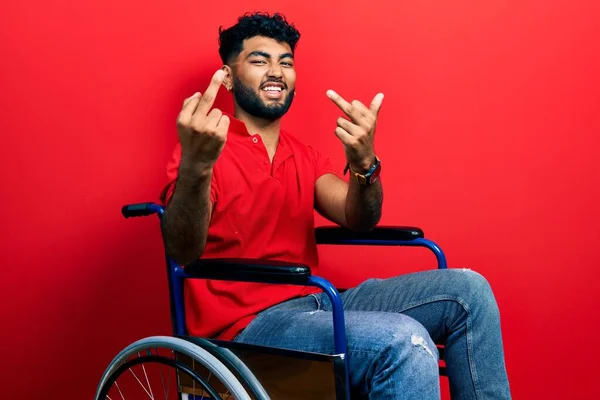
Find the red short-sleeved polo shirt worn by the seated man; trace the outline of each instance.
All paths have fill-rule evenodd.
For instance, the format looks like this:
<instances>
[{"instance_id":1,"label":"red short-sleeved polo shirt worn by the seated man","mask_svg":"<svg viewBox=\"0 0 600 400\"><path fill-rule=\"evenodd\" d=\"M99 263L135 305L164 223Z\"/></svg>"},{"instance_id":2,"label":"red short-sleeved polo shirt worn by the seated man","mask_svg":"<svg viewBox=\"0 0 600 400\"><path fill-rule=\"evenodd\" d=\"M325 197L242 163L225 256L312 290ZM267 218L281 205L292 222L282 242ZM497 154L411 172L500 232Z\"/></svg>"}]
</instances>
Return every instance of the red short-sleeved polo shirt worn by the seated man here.
<instances>
[{"instance_id":1,"label":"red short-sleeved polo shirt worn by the seated man","mask_svg":"<svg viewBox=\"0 0 600 400\"><path fill-rule=\"evenodd\" d=\"M231 120L211 182L213 212L203 258L257 258L306 264L318 274L314 236L315 181L337 174L328 158L281 131L273 162L260 135ZM181 146L167 166L172 196ZM318 289L293 285L189 279L185 282L190 335L233 339L260 311Z\"/></svg>"}]
</instances>

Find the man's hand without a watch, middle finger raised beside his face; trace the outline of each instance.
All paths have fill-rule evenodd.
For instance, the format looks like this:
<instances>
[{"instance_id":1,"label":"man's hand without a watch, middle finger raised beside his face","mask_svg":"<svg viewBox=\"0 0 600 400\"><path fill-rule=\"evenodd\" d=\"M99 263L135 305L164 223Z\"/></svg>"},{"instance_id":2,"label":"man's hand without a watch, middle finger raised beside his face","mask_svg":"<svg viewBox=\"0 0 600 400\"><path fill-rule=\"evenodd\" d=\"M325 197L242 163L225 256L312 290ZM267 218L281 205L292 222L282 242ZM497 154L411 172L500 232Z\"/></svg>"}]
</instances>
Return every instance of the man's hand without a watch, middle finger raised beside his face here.
<instances>
[{"instance_id":1,"label":"man's hand without a watch, middle finger raised beside his face","mask_svg":"<svg viewBox=\"0 0 600 400\"><path fill-rule=\"evenodd\" d=\"M194 93L183 102L177 117L182 163L212 168L223 151L230 121L221 110L210 111L223 78L222 70L215 72L204 95Z\"/></svg>"}]
</instances>

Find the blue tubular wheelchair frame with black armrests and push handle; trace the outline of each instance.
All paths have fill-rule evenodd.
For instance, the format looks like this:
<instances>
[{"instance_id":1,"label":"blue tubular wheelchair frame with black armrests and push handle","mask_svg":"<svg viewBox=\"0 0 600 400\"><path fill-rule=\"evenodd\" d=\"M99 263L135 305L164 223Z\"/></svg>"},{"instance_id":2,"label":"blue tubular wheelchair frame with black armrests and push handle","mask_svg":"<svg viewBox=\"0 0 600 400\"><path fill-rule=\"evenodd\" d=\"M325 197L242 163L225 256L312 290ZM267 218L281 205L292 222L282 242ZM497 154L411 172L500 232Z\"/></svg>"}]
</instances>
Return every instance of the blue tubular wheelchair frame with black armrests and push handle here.
<instances>
[{"instance_id":1,"label":"blue tubular wheelchair frame with black armrests and push handle","mask_svg":"<svg viewBox=\"0 0 600 400\"><path fill-rule=\"evenodd\" d=\"M125 205L121 211L125 218L157 214L162 222L165 208L155 203L140 203ZM377 227L368 233L354 233L339 227L321 227L315 229L315 236L317 244L425 247L435 254L439 269L447 268L442 249L433 241L425 239L423 231L415 227ZM340 294L329 281L312 276L310 268L300 264L269 260L199 259L188 266L181 266L167 254L165 257L171 298L171 323L175 336L187 335L183 295L185 279L295 284L322 289L331 301L335 352L344 359L345 392L350 393L344 311Z\"/></svg>"}]
</instances>

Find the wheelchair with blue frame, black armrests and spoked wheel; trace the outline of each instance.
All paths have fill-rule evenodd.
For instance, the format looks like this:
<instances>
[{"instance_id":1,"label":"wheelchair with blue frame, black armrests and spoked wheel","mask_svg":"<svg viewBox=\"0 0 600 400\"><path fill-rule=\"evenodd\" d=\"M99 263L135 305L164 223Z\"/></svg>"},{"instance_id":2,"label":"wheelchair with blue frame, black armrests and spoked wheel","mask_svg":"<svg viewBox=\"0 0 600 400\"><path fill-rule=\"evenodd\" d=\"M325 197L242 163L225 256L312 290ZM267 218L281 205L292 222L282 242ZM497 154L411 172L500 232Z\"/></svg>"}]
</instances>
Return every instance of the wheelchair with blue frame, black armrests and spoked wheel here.
<instances>
[{"instance_id":1,"label":"wheelchair with blue frame, black armrests and spoked wheel","mask_svg":"<svg viewBox=\"0 0 600 400\"><path fill-rule=\"evenodd\" d=\"M123 206L121 212L125 218L156 214L162 222L165 209L155 203L138 203ZM368 233L318 227L315 236L320 245L425 247L435 254L438 268L447 268L441 248L416 227L384 226ZM344 314L340 292L331 283L311 275L306 265L276 260L200 258L181 266L166 252L165 256L173 336L146 337L126 346L102 375L96 400L350 399ZM316 286L331 300L335 354L188 336L185 279ZM440 375L446 375L444 347L437 346Z\"/></svg>"}]
</instances>

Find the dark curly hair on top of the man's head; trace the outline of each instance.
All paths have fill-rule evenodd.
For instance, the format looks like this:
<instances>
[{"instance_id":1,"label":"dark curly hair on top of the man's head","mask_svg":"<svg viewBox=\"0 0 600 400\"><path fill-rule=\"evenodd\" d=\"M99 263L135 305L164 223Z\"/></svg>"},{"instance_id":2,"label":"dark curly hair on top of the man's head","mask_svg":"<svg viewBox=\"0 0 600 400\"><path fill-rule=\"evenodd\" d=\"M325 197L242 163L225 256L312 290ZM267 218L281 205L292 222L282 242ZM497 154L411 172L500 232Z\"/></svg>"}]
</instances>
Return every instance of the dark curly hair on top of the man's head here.
<instances>
[{"instance_id":1,"label":"dark curly hair on top of the man's head","mask_svg":"<svg viewBox=\"0 0 600 400\"><path fill-rule=\"evenodd\" d=\"M300 40L300 32L280 13L272 16L264 12L246 13L238 18L234 26L219 28L219 55L223 64L237 57L242 52L244 40L254 36L265 36L287 43L292 48L292 53Z\"/></svg>"}]
</instances>

